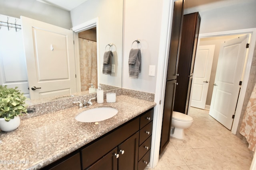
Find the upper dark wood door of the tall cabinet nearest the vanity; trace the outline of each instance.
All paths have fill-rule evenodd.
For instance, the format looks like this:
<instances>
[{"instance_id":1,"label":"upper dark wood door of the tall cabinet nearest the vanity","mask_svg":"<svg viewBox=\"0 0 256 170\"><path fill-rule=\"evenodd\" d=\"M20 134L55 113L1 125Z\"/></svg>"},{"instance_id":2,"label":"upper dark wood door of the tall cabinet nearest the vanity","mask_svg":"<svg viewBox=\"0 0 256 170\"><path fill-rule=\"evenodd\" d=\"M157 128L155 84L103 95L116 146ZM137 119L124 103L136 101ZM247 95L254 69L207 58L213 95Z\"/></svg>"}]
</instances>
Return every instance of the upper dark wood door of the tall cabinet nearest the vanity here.
<instances>
[{"instance_id":1,"label":"upper dark wood door of the tall cabinet nearest the vanity","mask_svg":"<svg viewBox=\"0 0 256 170\"><path fill-rule=\"evenodd\" d=\"M169 49L169 61L167 80L174 80L177 78L178 70L178 56L180 53L180 41L182 31L183 20L183 0L177 0L174 2L174 12L172 19L172 33Z\"/></svg>"}]
</instances>

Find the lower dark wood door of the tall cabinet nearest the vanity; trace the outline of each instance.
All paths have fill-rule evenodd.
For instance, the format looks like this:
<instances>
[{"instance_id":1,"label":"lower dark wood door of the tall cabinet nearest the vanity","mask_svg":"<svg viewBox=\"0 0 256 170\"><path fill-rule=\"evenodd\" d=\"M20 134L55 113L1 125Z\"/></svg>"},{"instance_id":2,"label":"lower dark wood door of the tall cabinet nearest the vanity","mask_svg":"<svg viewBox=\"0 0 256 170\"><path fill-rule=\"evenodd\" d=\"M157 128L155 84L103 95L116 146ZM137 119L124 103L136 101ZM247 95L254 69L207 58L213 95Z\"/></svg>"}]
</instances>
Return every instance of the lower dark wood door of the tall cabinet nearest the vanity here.
<instances>
[{"instance_id":1,"label":"lower dark wood door of the tall cabinet nearest the vanity","mask_svg":"<svg viewBox=\"0 0 256 170\"><path fill-rule=\"evenodd\" d=\"M164 111L162 121L162 133L160 142L160 153L170 141L170 130L172 123L172 111L174 105L174 96L176 89L176 80L167 81L164 97Z\"/></svg>"}]
</instances>

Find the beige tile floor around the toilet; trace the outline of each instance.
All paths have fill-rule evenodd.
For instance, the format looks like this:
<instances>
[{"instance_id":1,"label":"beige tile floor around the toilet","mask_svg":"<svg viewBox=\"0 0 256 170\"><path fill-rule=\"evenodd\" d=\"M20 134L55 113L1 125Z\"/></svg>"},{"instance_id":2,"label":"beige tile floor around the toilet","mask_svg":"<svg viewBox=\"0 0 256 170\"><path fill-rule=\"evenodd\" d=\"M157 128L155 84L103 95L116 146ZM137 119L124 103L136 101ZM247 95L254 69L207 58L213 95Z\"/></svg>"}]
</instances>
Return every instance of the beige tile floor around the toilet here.
<instances>
[{"instance_id":1,"label":"beige tile floor around the toilet","mask_svg":"<svg viewBox=\"0 0 256 170\"><path fill-rule=\"evenodd\" d=\"M147 170L249 170L252 154L236 135L207 110L191 107L193 125L185 139L170 139L155 168ZM145 170L146 170L145 169Z\"/></svg>"}]
</instances>

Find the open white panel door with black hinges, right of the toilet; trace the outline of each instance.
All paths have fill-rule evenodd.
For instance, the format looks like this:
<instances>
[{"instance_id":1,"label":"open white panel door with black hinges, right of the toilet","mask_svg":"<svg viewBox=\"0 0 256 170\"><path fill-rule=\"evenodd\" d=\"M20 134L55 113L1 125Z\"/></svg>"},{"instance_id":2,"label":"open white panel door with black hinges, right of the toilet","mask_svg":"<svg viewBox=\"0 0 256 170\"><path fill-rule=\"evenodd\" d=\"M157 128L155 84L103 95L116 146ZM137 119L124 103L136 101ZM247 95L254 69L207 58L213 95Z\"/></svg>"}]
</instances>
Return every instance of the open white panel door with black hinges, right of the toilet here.
<instances>
[{"instance_id":1,"label":"open white panel door with black hinges, right of the toilet","mask_svg":"<svg viewBox=\"0 0 256 170\"><path fill-rule=\"evenodd\" d=\"M249 35L226 41L220 55L214 81L209 114L226 128L231 129L244 72Z\"/></svg>"}]
</instances>

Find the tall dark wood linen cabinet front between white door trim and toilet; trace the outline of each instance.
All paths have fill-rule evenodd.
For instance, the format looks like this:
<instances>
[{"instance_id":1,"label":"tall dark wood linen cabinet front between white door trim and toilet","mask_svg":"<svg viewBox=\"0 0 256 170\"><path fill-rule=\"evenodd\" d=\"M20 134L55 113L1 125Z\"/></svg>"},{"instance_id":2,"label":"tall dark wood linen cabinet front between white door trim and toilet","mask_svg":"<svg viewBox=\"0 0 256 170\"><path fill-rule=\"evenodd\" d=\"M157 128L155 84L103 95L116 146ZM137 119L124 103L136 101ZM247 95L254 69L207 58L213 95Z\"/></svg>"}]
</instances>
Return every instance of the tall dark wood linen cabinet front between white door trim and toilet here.
<instances>
[{"instance_id":1,"label":"tall dark wood linen cabinet front between white door trim and toilet","mask_svg":"<svg viewBox=\"0 0 256 170\"><path fill-rule=\"evenodd\" d=\"M181 30L184 11L183 6L184 0L177 0L174 2L168 71L164 96L160 153L164 150L164 148L170 141L170 128L172 123L172 111L177 81L177 62L180 51Z\"/></svg>"}]
</instances>

